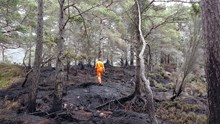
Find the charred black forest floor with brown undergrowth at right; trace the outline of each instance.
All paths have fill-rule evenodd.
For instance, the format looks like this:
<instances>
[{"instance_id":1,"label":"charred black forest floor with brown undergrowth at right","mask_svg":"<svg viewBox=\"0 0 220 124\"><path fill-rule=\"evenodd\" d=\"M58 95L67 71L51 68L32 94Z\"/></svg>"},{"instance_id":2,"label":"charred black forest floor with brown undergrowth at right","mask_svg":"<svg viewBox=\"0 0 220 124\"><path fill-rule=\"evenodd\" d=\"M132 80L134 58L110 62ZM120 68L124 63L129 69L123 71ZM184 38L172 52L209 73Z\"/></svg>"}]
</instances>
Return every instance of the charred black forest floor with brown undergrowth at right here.
<instances>
[{"instance_id":1,"label":"charred black forest floor with brown undergrowth at right","mask_svg":"<svg viewBox=\"0 0 220 124\"><path fill-rule=\"evenodd\" d=\"M1 68L0 68L1 69ZM0 70L4 71L4 70ZM41 69L41 83L37 95L37 112L27 113L28 84L17 79L8 88L0 89L1 124L148 124L143 108L132 108L128 102L101 105L134 92L135 67L106 67L103 83L98 84L94 69L79 66L70 69L65 81L63 110L48 113L54 91L55 70ZM154 94L156 116L163 124L205 124L207 94L205 83L190 83L180 97L171 101L173 81L165 72L148 75ZM99 108L99 109L97 109Z\"/></svg>"}]
</instances>

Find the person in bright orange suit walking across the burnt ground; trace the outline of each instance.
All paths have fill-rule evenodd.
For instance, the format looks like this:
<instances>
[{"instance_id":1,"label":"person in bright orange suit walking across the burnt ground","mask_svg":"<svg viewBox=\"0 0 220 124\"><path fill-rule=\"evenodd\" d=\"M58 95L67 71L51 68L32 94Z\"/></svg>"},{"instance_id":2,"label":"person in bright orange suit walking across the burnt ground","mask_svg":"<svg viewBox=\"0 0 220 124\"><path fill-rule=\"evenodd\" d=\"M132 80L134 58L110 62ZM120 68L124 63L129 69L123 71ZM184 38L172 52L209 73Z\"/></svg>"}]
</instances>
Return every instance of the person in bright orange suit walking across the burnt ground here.
<instances>
[{"instance_id":1,"label":"person in bright orange suit walking across the burnt ground","mask_svg":"<svg viewBox=\"0 0 220 124\"><path fill-rule=\"evenodd\" d=\"M96 70L96 75L98 77L98 82L101 84L102 83L101 77L102 74L105 72L105 67L100 58L98 59L98 61L96 61L95 70Z\"/></svg>"}]
</instances>

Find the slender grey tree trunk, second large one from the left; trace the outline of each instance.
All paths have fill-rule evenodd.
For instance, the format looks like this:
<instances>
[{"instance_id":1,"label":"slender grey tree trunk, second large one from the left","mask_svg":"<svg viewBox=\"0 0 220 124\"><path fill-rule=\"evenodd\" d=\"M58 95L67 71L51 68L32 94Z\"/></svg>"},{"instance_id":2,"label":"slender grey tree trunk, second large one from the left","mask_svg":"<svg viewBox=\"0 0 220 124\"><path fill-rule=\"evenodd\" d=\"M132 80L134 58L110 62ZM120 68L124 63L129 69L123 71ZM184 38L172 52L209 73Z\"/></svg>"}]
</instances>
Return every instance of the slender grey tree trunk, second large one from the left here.
<instances>
[{"instance_id":1,"label":"slender grey tree trunk, second large one from the left","mask_svg":"<svg viewBox=\"0 0 220 124\"><path fill-rule=\"evenodd\" d=\"M60 0L60 13L59 13L59 36L57 41L57 59L56 59L56 83L51 112L59 111L62 109L63 98L63 81L64 81L64 65L62 64L63 58L63 44L64 44L64 3L65 0Z\"/></svg>"}]
</instances>

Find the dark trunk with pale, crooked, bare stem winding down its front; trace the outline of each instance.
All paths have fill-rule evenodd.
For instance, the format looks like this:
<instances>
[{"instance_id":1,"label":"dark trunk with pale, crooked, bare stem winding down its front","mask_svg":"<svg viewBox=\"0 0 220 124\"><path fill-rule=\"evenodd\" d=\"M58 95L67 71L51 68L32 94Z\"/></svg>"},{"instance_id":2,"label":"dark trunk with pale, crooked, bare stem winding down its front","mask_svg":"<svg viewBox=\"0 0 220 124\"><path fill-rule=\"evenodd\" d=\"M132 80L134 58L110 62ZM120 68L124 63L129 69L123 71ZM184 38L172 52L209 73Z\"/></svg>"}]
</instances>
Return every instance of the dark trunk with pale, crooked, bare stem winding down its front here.
<instances>
[{"instance_id":1,"label":"dark trunk with pale, crooked, bare stem winding down its front","mask_svg":"<svg viewBox=\"0 0 220 124\"><path fill-rule=\"evenodd\" d=\"M138 97L146 97L145 103L146 105L146 110L148 111L148 114L151 119L151 123L156 123L157 124L157 119L155 117L155 108L154 108L154 103L153 103L153 93L150 88L150 82L147 80L145 76L145 65L144 65L144 51L146 48L146 41L144 39L142 30L141 30L141 10L140 10L140 0L136 0L136 6L137 6L137 14L138 14L138 26L136 26L136 36L137 36L137 41L139 42L138 44L141 43L142 41L142 47L141 50L140 48L137 48L137 65L136 65L136 87L135 87L135 93ZM138 47L140 47L138 45Z\"/></svg>"}]
</instances>

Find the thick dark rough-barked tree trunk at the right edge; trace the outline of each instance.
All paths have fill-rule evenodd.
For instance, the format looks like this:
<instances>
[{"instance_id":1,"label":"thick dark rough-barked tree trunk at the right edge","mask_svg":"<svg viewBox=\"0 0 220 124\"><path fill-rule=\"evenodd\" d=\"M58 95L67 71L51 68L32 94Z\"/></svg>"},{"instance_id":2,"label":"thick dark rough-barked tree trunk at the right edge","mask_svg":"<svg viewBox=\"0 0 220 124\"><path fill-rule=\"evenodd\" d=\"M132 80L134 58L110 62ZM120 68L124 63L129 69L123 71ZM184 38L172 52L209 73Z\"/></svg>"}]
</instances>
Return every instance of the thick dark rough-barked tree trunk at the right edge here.
<instances>
[{"instance_id":1,"label":"thick dark rough-barked tree trunk at the right edge","mask_svg":"<svg viewBox=\"0 0 220 124\"><path fill-rule=\"evenodd\" d=\"M220 123L220 1L202 0L209 124Z\"/></svg>"}]
</instances>

